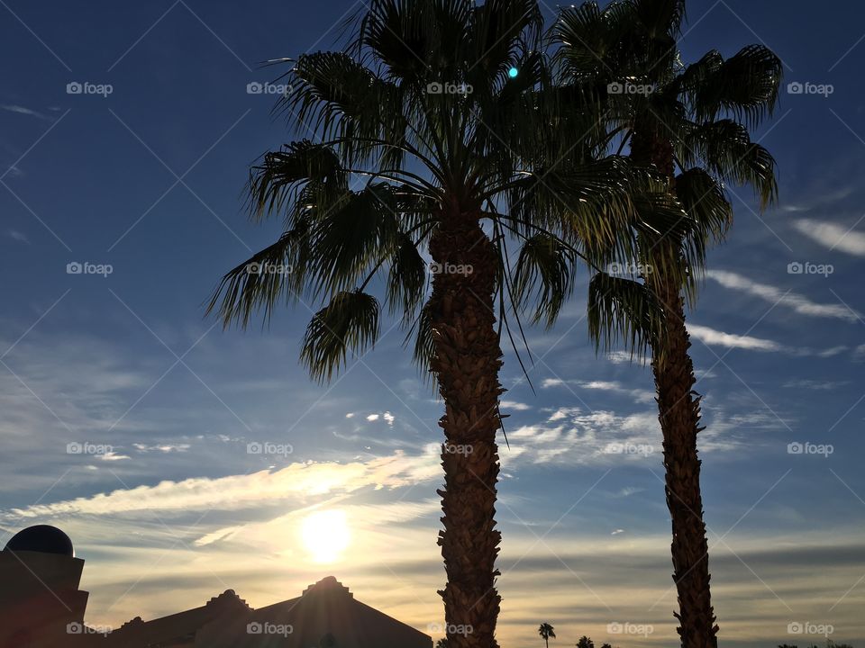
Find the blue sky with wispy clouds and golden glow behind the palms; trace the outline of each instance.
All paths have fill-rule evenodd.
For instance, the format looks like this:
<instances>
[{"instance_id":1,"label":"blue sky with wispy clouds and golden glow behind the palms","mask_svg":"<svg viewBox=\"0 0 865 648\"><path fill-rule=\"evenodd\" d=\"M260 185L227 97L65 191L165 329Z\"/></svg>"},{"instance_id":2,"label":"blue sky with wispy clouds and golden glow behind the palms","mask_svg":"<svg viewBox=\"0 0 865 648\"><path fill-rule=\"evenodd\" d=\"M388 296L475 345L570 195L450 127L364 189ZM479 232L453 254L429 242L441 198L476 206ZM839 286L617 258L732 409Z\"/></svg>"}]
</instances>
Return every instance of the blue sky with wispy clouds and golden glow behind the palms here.
<instances>
[{"instance_id":1,"label":"blue sky with wispy clouds and golden glow behind the palms","mask_svg":"<svg viewBox=\"0 0 865 648\"><path fill-rule=\"evenodd\" d=\"M203 310L225 270L278 236L278 222L242 210L250 163L288 139L273 97L247 91L275 76L259 62L327 49L359 7L0 2L0 523L4 536L68 531L94 623L228 588L262 606L328 573L424 631L441 623L441 403L402 332L387 323L375 351L323 387L297 365L304 306L246 333ZM862 9L694 0L689 15L688 60L763 42L786 74L757 134L778 159L780 204L759 214L733 188L735 227L689 314L723 641L822 641L814 627L788 635L810 623L861 644ZM788 92L796 82L832 92ZM69 94L70 83L89 85ZM100 85L111 94L91 94ZM71 263L112 272L68 274ZM675 636L651 374L596 357L584 306L580 288L555 329L529 332L536 393L513 354L503 370L500 635L514 648L536 644L541 621L571 644ZM256 455L250 443L284 447ZM791 443L833 452L789 454ZM351 532L328 563L302 532L321 510ZM615 622L652 632L610 635Z\"/></svg>"}]
</instances>

